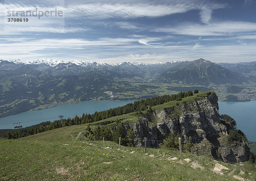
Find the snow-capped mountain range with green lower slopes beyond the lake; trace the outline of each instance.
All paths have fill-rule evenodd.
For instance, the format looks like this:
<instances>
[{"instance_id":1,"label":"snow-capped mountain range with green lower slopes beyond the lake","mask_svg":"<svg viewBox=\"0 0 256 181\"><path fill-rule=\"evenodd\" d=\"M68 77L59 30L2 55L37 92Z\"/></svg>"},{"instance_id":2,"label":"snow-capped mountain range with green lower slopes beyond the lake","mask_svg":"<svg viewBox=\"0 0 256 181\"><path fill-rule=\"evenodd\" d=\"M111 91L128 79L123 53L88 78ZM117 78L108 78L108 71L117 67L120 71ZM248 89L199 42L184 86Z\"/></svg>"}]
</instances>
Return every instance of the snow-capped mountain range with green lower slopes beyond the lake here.
<instances>
[{"instance_id":1,"label":"snow-capped mountain range with green lower slopes beyond the lake","mask_svg":"<svg viewBox=\"0 0 256 181\"><path fill-rule=\"evenodd\" d=\"M237 68L242 67L242 68ZM243 69L244 71L241 71ZM0 60L0 117L85 100L140 99L184 86L255 82L256 63L215 64L204 59L145 64L59 59ZM163 85L167 88L163 90ZM173 85L179 85L174 87ZM169 87L168 87L169 86Z\"/></svg>"}]
</instances>

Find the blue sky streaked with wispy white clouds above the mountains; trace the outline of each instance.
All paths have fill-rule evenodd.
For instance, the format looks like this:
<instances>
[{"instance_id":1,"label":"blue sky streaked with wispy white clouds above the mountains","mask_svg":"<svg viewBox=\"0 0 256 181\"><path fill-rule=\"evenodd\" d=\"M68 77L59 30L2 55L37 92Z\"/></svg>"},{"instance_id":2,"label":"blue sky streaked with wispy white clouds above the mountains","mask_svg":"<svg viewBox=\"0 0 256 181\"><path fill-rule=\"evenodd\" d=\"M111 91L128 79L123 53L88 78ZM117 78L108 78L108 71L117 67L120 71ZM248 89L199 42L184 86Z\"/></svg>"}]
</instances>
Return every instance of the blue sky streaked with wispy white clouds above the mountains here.
<instances>
[{"instance_id":1,"label":"blue sky streaked with wispy white clouds above the mountains","mask_svg":"<svg viewBox=\"0 0 256 181\"><path fill-rule=\"evenodd\" d=\"M0 12L5 60L256 61L256 0L0 0Z\"/></svg>"}]
</instances>

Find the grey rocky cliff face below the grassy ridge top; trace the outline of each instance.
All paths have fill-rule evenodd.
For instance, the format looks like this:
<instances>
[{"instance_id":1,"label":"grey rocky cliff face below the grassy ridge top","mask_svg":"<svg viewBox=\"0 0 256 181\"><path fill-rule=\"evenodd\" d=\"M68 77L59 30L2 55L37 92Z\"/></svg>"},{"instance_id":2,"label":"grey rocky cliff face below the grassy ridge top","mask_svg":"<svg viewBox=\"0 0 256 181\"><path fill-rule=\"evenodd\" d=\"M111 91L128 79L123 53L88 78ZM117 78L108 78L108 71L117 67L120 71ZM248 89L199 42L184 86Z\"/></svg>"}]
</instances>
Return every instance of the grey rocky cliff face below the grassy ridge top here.
<instances>
[{"instance_id":1,"label":"grey rocky cliff face below the grassy ridge top","mask_svg":"<svg viewBox=\"0 0 256 181\"><path fill-rule=\"evenodd\" d=\"M178 113L178 114L177 114ZM123 124L127 133L130 127L134 127L136 145L159 147L159 141L167 138L171 132L180 134L182 141L191 139L194 152L198 155L210 154L215 159L224 162L247 161L250 147L248 142L235 141L230 144L227 135L230 130L236 130L236 122L224 122L218 113L218 97L215 93L205 99L196 99L177 105L174 108L153 110L144 115L138 123ZM149 123L155 123L149 127Z\"/></svg>"}]
</instances>

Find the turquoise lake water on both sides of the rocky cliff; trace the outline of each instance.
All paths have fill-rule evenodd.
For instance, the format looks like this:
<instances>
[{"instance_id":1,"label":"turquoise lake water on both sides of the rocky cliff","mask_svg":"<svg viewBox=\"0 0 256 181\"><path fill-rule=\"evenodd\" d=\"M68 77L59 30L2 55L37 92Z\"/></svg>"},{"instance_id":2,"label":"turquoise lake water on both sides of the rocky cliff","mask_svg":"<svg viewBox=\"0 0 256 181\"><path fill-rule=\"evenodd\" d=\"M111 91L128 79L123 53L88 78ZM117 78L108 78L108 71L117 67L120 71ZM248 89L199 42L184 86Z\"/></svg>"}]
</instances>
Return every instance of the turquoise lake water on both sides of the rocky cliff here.
<instances>
[{"instance_id":1,"label":"turquoise lake water on both sides of the rocky cliff","mask_svg":"<svg viewBox=\"0 0 256 181\"><path fill-rule=\"evenodd\" d=\"M126 105L129 101L85 101L73 105L61 105L44 110L28 111L14 116L0 119L0 129L13 129L14 122L21 122L23 127L38 124L44 121L82 116L82 113L94 113L95 111L107 110L109 108ZM256 101L248 102L218 102L219 113L227 114L236 120L237 129L242 130L248 140L256 141ZM255 111L255 112L254 112Z\"/></svg>"}]
</instances>

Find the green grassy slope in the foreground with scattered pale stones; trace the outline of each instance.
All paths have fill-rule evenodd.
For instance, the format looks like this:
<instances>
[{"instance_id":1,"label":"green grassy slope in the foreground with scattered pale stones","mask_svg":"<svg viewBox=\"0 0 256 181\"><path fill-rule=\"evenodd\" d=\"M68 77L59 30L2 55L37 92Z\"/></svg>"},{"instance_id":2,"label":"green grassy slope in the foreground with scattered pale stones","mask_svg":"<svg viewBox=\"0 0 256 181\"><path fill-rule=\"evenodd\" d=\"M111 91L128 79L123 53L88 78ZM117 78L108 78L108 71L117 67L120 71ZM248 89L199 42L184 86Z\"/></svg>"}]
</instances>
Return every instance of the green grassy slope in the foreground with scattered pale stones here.
<instances>
[{"instance_id":1,"label":"green grassy slope in the foreground with scattered pale stones","mask_svg":"<svg viewBox=\"0 0 256 181\"><path fill-rule=\"evenodd\" d=\"M74 125L38 133L17 140L0 139L0 180L234 180L228 176L233 168L244 171L244 178L256 178L256 168L249 162L244 166L220 164L230 170L224 175L211 171L216 161L204 156L184 153L182 158L197 160L205 170L193 169L189 164L165 160L169 156L178 157L179 152L169 149L147 148L148 154L160 158L150 158L143 148L121 147L106 141L113 147L104 150L102 141L80 141L78 133L87 126ZM130 153L137 151L137 153ZM104 155L105 154L105 155ZM107 155L108 154L108 155ZM111 162L106 164L104 162ZM249 174L251 173L251 175Z\"/></svg>"}]
</instances>

